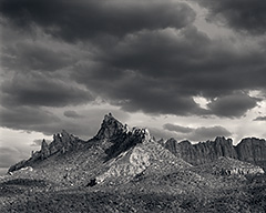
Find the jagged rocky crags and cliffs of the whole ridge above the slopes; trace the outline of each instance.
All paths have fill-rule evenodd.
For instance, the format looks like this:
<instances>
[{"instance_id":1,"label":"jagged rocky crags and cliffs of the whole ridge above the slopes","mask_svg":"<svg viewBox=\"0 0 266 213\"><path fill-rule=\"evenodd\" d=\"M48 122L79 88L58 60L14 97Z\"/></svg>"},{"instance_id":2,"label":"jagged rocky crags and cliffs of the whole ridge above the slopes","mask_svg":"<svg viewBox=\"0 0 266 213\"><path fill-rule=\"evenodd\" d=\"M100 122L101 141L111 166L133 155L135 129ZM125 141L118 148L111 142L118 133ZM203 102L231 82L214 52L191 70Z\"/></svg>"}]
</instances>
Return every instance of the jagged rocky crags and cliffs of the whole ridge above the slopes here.
<instances>
[{"instance_id":1,"label":"jagged rocky crags and cliffs of the whole ridge above the slopes","mask_svg":"<svg viewBox=\"0 0 266 213\"><path fill-rule=\"evenodd\" d=\"M64 154L71 150L82 149L88 144L99 143L99 141L101 141L101 146L106 154L105 161L109 161L145 140L151 140L147 129L133 128L130 130L126 124L122 124L109 113L104 115L100 130L92 139L84 141L62 130L61 134L53 135L53 141L50 144L43 140L40 151L32 152L29 160L11 165L9 172L32 166L35 162L43 161L54 154ZM225 156L260 165L266 170L266 141L264 139L246 138L237 145L233 145L232 139L224 136L196 144L192 144L190 141L177 142L173 138L165 142L158 141L158 143L177 158L193 165L208 163Z\"/></svg>"}]
</instances>

